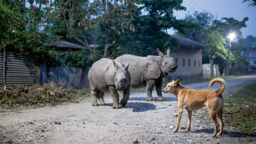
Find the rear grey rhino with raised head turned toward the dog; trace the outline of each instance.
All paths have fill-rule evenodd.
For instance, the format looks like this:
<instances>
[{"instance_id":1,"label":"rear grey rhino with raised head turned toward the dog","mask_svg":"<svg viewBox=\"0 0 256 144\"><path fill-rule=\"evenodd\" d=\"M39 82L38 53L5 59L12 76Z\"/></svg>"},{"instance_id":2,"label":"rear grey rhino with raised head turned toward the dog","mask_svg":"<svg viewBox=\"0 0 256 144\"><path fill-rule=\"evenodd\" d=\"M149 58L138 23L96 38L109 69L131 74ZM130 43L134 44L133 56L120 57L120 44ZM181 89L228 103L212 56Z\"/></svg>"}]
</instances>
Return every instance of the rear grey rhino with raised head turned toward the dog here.
<instances>
[{"instance_id":1,"label":"rear grey rhino with raised head turned toward the dog","mask_svg":"<svg viewBox=\"0 0 256 144\"><path fill-rule=\"evenodd\" d=\"M164 55L157 50L159 56L148 55L148 57L138 57L136 55L124 54L115 60L121 61L124 65L130 61L128 71L131 75L131 87L139 88L146 86L147 101L153 101L152 91L156 86L158 101L164 101L162 96L163 77L173 73L177 64L170 57L170 51Z\"/></svg>"}]
</instances>

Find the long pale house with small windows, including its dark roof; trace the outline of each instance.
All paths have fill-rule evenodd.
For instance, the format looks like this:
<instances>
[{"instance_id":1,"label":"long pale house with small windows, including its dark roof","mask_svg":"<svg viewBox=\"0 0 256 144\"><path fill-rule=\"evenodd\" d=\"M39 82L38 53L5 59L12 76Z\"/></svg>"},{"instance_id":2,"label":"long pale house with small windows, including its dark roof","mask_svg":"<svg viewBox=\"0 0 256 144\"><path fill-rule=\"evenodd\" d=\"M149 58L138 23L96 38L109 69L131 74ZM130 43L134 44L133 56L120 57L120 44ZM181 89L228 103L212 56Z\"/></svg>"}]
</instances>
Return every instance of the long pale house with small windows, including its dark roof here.
<instances>
[{"instance_id":1,"label":"long pale house with small windows, including its dark roof","mask_svg":"<svg viewBox=\"0 0 256 144\"><path fill-rule=\"evenodd\" d=\"M174 73L170 73L167 79L177 77L198 77L202 76L202 49L203 44L192 41L189 38L171 36L176 39L180 45L177 52L171 52L178 65Z\"/></svg>"}]
</instances>

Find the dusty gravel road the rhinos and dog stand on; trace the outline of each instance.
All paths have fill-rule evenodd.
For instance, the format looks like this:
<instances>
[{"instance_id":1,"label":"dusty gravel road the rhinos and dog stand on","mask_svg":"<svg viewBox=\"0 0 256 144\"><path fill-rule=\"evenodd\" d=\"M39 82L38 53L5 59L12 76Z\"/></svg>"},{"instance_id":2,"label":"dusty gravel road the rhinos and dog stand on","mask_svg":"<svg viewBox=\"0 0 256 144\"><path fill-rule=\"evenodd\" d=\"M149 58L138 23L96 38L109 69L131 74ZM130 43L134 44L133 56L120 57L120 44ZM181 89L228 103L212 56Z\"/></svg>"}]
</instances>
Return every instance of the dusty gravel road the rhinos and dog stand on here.
<instances>
[{"instance_id":1,"label":"dusty gravel road the rhinos and dog stand on","mask_svg":"<svg viewBox=\"0 0 256 144\"><path fill-rule=\"evenodd\" d=\"M227 79L224 95L230 95L256 76ZM208 82L186 85L207 89ZM214 85L213 89L218 89ZM156 96L156 93L153 93ZM92 107L87 99L56 107L18 111L0 110L0 143L256 143L235 127L225 127L222 137L211 138L213 123L206 109L193 113L191 132L186 132L187 113L183 113L178 133L173 133L177 99L164 94L165 102L147 102L145 93L132 94L125 108ZM61 124L55 124L60 122Z\"/></svg>"}]
</instances>

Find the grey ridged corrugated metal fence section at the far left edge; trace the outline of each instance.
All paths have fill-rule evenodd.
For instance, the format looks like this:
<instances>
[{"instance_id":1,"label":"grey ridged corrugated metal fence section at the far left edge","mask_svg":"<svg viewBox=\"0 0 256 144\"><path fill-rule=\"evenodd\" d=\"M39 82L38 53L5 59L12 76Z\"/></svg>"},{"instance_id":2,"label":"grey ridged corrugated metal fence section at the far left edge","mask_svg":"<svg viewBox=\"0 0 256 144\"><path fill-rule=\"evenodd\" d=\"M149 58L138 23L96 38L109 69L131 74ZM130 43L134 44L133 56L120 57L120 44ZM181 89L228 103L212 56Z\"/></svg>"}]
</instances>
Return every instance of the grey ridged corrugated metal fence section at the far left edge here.
<instances>
[{"instance_id":1,"label":"grey ridged corrugated metal fence section at the far left edge","mask_svg":"<svg viewBox=\"0 0 256 144\"><path fill-rule=\"evenodd\" d=\"M0 74L3 76L3 56L0 56L0 62ZM23 56L20 53L6 52L6 86L36 84L37 62L38 57L34 55ZM3 83L3 79L0 81Z\"/></svg>"}]
</instances>

